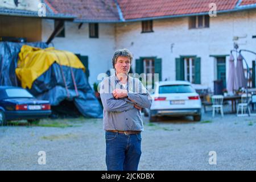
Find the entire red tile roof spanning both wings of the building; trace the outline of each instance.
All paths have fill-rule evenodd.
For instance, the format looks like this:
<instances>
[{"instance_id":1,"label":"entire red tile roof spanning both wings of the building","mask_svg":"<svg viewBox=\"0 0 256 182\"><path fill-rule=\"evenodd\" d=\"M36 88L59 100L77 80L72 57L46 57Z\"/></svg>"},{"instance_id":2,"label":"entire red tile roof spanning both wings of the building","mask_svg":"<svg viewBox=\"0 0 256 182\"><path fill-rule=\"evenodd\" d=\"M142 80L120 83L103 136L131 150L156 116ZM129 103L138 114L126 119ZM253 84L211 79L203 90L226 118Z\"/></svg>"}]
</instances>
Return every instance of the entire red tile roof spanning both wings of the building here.
<instances>
[{"instance_id":1,"label":"entire red tile roof spanning both wings of the building","mask_svg":"<svg viewBox=\"0 0 256 182\"><path fill-rule=\"evenodd\" d=\"M209 4L217 11L241 10L256 0L44 0L53 13L72 14L77 21L120 22L208 13ZM241 7L241 8L240 8ZM119 11L119 13L118 13Z\"/></svg>"}]
</instances>

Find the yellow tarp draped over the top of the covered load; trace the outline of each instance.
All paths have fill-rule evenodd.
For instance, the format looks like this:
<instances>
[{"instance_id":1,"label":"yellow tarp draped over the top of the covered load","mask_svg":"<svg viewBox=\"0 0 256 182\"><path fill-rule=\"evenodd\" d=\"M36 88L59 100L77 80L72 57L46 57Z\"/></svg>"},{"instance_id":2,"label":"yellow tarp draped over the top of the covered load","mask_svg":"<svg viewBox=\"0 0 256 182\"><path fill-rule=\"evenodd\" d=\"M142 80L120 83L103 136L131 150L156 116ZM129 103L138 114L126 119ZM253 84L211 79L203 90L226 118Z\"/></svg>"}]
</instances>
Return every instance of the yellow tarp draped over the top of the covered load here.
<instances>
[{"instance_id":1,"label":"yellow tarp draped over the top of the covered load","mask_svg":"<svg viewBox=\"0 0 256 182\"><path fill-rule=\"evenodd\" d=\"M54 62L72 68L81 68L85 71L84 65L72 52L60 51L54 47L41 49L27 45L22 46L19 52L18 65L15 69L22 87L31 89L36 78L46 72Z\"/></svg>"}]
</instances>

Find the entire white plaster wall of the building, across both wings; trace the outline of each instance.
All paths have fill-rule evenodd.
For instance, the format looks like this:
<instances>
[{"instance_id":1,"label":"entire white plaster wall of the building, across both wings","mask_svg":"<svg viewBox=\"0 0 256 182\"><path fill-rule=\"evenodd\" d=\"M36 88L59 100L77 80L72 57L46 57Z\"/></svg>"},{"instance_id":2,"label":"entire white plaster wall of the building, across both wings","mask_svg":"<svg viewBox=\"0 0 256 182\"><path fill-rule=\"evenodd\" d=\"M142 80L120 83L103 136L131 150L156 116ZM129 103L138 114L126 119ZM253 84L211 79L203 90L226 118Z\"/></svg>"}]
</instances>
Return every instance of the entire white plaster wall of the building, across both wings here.
<instances>
[{"instance_id":1,"label":"entire white plaster wall of the building, across both wings","mask_svg":"<svg viewBox=\"0 0 256 182\"><path fill-rule=\"evenodd\" d=\"M233 37L241 49L256 51L256 11L217 14L210 18L210 28L188 28L188 17L154 20L154 32L141 33L141 22L100 23L99 38L89 38L89 24L84 23L80 30L79 23L65 23L65 38L55 38L57 49L80 53L89 57L89 82L97 81L99 73L112 68L111 59L115 49L128 48L139 57L157 56L162 59L162 80L175 80L175 58L180 55L201 57L201 85L213 89L216 79L214 57L209 55L229 55L233 49ZM53 20L42 20L42 40L46 41L54 27ZM242 38L244 36L244 38ZM171 44L174 47L171 50ZM234 54L236 56L236 54ZM243 53L251 66L255 56ZM226 78L228 79L228 60L226 57ZM132 65L135 71L135 61Z\"/></svg>"}]
</instances>

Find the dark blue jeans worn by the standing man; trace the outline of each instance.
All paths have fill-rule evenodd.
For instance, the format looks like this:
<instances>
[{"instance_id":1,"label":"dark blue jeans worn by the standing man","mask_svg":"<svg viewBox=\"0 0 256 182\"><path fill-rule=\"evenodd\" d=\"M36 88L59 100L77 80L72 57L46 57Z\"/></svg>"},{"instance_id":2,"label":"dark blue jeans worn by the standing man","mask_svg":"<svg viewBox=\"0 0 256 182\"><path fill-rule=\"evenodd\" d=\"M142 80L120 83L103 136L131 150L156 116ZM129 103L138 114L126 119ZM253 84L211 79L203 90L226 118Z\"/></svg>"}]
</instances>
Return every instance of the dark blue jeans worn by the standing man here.
<instances>
[{"instance_id":1,"label":"dark blue jeans worn by the standing man","mask_svg":"<svg viewBox=\"0 0 256 182\"><path fill-rule=\"evenodd\" d=\"M105 138L108 171L137 171L141 158L141 134L106 131Z\"/></svg>"}]
</instances>

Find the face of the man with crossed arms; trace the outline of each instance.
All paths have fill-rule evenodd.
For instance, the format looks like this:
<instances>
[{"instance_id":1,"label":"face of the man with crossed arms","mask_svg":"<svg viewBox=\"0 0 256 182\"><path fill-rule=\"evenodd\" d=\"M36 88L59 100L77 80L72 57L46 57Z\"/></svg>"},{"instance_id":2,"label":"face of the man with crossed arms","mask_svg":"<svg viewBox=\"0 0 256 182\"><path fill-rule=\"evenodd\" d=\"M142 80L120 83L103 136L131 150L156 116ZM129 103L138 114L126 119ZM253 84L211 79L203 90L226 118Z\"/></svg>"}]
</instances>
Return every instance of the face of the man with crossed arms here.
<instances>
[{"instance_id":1,"label":"face of the man with crossed arms","mask_svg":"<svg viewBox=\"0 0 256 182\"><path fill-rule=\"evenodd\" d=\"M114 65L117 74L123 73L128 75L131 68L131 61L129 57L118 56L117 63Z\"/></svg>"}]
</instances>

